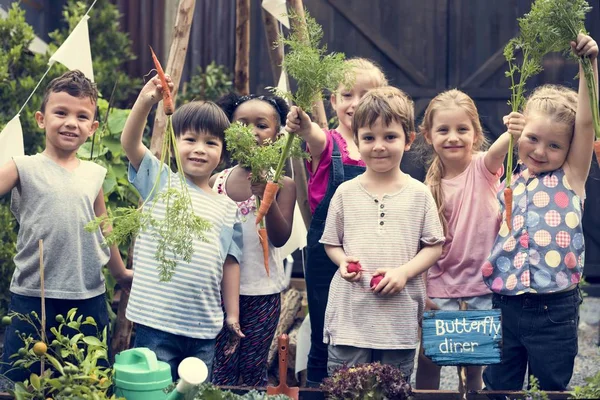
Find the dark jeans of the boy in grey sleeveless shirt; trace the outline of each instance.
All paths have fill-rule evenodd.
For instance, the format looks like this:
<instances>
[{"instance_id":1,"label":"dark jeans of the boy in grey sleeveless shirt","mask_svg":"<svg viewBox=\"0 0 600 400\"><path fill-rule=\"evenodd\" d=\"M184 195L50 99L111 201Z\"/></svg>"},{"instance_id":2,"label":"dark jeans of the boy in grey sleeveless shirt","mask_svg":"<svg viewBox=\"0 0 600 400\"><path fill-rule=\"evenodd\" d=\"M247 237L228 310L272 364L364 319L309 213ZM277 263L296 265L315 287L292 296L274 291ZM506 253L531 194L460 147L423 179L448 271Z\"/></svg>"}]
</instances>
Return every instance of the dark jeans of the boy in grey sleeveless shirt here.
<instances>
[{"instance_id":1,"label":"dark jeans of the boy in grey sleeveless shirt","mask_svg":"<svg viewBox=\"0 0 600 400\"><path fill-rule=\"evenodd\" d=\"M85 300L63 300L63 299L46 299L46 336L47 342L51 343L54 340L54 335L50 332L50 328L58 326L56 322L56 316L61 314L63 317L67 317L67 312L71 308L77 308L76 316L82 315L85 317L92 317L96 321L98 328L92 325L81 325L81 332L86 336L98 336L102 333L105 327L108 326L108 305L106 304L106 295L103 293L91 299ZM10 295L10 306L8 307L9 312L17 312L20 314L29 314L35 311L38 318L42 318L41 300L39 297L21 296L19 294L11 293ZM35 319L34 319L35 320ZM39 329L39 327L37 327ZM18 318L13 318L12 323L6 328L4 334L4 353L2 355L2 365L0 366L0 374L4 374L8 379L13 382L23 382L25 379L29 379L31 372L39 374L39 365L32 365L28 369L16 368L12 369L12 363L17 358L10 358L11 355L16 354L21 347L23 347L23 341L16 334L19 331L21 334L29 334L33 338L40 340L37 336L36 329L25 321L21 321ZM63 327L63 335L73 337L76 331ZM107 335L107 345L110 350L110 335ZM109 354L110 359L110 354ZM99 360L98 365L108 366L107 361Z\"/></svg>"}]
</instances>

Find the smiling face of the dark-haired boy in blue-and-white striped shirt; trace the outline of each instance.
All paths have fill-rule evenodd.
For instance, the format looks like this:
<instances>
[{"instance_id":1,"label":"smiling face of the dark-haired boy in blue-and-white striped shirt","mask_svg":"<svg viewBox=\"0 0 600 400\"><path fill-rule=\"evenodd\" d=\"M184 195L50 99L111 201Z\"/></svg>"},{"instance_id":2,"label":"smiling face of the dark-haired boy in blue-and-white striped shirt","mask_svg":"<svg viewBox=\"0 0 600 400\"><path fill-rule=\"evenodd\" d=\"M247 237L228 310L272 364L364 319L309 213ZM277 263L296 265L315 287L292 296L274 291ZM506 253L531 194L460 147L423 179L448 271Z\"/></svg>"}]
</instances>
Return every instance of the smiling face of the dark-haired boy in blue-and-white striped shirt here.
<instances>
[{"instance_id":1,"label":"smiling face of the dark-haired boy in blue-and-white striped shirt","mask_svg":"<svg viewBox=\"0 0 600 400\"><path fill-rule=\"evenodd\" d=\"M223 160L223 141L208 132L186 131L177 138L184 174L202 186Z\"/></svg>"}]
</instances>

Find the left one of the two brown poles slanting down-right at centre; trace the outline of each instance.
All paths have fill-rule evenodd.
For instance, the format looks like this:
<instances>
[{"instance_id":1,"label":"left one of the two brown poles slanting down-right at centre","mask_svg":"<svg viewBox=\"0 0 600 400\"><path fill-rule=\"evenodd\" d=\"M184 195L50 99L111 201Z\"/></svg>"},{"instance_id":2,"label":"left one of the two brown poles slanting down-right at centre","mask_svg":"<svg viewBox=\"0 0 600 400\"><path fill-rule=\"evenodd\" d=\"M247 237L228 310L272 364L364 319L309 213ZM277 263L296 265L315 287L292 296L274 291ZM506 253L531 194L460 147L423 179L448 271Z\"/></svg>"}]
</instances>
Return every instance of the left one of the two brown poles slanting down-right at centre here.
<instances>
[{"instance_id":1,"label":"left one of the two brown poles slanting down-right at centre","mask_svg":"<svg viewBox=\"0 0 600 400\"><path fill-rule=\"evenodd\" d=\"M265 25L265 36L267 38L267 46L269 46L269 59L271 60L271 70L273 71L273 80L276 86L279 82L281 75L281 64L283 63L283 48L282 46L276 46L281 30L279 29L279 22L277 18L272 16L270 13L262 10L263 22ZM288 88L289 90L289 88ZM308 229L312 214L310 212L310 206L308 204L308 187L306 169L304 162L297 158L292 158L292 168L294 169L294 182L296 183L296 201L302 214L302 220L304 225Z\"/></svg>"}]
</instances>

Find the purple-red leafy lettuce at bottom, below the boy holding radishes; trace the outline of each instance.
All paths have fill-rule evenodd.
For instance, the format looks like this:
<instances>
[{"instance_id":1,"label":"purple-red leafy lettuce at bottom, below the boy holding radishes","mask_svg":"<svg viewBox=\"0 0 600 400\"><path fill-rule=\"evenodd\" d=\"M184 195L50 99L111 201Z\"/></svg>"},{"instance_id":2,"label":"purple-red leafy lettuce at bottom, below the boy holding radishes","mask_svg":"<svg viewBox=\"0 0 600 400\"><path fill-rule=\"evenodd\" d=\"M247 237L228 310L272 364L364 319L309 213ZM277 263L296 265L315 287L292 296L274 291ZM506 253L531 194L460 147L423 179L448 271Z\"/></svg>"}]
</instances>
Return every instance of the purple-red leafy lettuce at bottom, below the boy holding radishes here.
<instances>
[{"instance_id":1,"label":"purple-red leafy lettuce at bottom, below the boy holding radishes","mask_svg":"<svg viewBox=\"0 0 600 400\"><path fill-rule=\"evenodd\" d=\"M331 400L354 399L412 399L410 384L402 372L392 365L378 362L342 367L321 385L326 398Z\"/></svg>"}]
</instances>

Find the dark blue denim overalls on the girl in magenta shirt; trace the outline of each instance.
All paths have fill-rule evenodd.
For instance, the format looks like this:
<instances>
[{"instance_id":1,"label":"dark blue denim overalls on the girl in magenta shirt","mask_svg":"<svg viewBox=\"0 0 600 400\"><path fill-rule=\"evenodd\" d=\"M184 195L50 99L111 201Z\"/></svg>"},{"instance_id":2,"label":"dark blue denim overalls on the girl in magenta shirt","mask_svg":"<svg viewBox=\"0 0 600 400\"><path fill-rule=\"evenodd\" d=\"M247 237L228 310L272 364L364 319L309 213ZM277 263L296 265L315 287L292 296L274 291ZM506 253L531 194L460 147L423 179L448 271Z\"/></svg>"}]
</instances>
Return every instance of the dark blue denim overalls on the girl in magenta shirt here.
<instances>
[{"instance_id":1,"label":"dark blue denim overalls on the girl in magenta shirt","mask_svg":"<svg viewBox=\"0 0 600 400\"><path fill-rule=\"evenodd\" d=\"M327 345L323 343L323 325L329 296L329 285L338 269L325 253L325 248L319 243L319 240L323 235L329 203L335 190L340 184L360 175L364 170L365 168L361 166L344 165L339 147L333 139L327 190L325 197L315 209L307 238L304 277L311 323L311 346L307 366L307 382L310 386L318 386L327 377Z\"/></svg>"}]
</instances>

